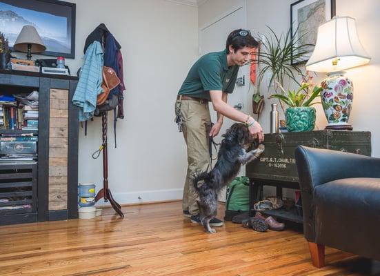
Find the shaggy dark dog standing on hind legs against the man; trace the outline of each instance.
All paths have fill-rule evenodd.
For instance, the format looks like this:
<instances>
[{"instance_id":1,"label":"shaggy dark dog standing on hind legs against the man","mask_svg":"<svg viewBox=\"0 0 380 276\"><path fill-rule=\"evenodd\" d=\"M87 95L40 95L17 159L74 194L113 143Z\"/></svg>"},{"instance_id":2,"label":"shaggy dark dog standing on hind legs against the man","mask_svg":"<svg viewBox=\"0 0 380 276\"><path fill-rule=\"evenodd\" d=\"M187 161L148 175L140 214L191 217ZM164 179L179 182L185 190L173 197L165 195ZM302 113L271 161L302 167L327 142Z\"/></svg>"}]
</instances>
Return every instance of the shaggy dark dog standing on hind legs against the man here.
<instances>
[{"instance_id":1,"label":"shaggy dark dog standing on hind legs against the man","mask_svg":"<svg viewBox=\"0 0 380 276\"><path fill-rule=\"evenodd\" d=\"M217 232L209 223L217 215L221 189L237 176L241 165L257 159L264 151L264 146L260 144L257 149L246 152L252 145L253 137L245 124L233 124L222 137L214 168L210 172L199 172L192 177L192 184L199 196L201 224L208 233ZM201 186L198 186L199 181L204 181Z\"/></svg>"}]
</instances>

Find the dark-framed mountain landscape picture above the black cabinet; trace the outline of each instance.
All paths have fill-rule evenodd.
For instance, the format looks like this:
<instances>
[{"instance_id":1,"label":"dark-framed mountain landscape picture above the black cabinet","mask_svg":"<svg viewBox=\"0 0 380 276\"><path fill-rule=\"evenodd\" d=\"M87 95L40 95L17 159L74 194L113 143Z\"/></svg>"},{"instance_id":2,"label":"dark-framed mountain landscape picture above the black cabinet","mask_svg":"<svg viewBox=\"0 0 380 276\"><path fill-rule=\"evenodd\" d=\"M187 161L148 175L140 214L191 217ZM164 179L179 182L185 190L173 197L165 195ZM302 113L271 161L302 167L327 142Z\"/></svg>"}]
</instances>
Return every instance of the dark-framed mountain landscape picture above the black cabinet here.
<instances>
[{"instance_id":1,"label":"dark-framed mountain landscape picture above the black cabinet","mask_svg":"<svg viewBox=\"0 0 380 276\"><path fill-rule=\"evenodd\" d=\"M46 46L46 51L39 55L74 59L75 13L76 4L64 1L0 0L0 20L13 17L12 23L1 26L0 32L14 50L12 46L22 26L32 24Z\"/></svg>"}]
</instances>

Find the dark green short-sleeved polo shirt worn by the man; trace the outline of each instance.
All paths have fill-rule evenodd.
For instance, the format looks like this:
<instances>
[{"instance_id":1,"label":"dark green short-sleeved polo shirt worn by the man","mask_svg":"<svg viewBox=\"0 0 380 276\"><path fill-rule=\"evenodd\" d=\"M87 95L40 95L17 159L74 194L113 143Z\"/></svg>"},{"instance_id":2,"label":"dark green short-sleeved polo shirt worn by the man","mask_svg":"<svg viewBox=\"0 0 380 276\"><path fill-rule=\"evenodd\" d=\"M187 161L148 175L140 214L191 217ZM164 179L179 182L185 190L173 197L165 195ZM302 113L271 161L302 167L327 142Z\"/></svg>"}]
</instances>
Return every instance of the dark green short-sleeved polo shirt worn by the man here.
<instances>
[{"instance_id":1,"label":"dark green short-sleeved polo shirt worn by the man","mask_svg":"<svg viewBox=\"0 0 380 276\"><path fill-rule=\"evenodd\" d=\"M239 66L227 66L226 51L203 55L190 68L178 95L211 100L210 90L234 91Z\"/></svg>"}]
</instances>

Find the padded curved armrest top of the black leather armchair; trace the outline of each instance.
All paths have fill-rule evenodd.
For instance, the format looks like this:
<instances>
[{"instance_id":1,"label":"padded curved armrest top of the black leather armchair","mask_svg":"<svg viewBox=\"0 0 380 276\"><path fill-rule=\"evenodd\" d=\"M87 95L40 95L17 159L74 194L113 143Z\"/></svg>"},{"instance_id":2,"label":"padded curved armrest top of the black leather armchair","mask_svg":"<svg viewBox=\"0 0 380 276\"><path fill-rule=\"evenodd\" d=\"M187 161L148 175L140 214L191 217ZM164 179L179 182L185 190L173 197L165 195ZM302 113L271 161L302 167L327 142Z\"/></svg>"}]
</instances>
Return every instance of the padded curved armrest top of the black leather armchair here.
<instances>
[{"instance_id":1,"label":"padded curved armrest top of the black leather armchair","mask_svg":"<svg viewBox=\"0 0 380 276\"><path fill-rule=\"evenodd\" d=\"M342 178L380 178L380 159L354 153L298 146L295 158L301 188Z\"/></svg>"}]
</instances>

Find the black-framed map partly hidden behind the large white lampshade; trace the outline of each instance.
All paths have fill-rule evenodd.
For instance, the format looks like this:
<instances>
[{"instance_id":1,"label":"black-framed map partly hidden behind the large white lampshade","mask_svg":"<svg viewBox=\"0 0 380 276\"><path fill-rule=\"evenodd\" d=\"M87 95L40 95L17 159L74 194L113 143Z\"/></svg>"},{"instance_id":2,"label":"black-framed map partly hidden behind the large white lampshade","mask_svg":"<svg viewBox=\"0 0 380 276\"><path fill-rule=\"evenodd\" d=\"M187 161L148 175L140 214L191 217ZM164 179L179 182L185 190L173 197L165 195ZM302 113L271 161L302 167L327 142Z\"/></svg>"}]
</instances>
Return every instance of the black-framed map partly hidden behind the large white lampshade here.
<instances>
[{"instance_id":1,"label":"black-framed map partly hidden behind the large white lampshade","mask_svg":"<svg viewBox=\"0 0 380 276\"><path fill-rule=\"evenodd\" d=\"M321 17L321 10L324 10L325 18ZM332 19L336 13L336 0L299 0L290 5L290 30L292 38L294 32L296 35L302 35L308 32L303 37L302 44L315 45L317 41L318 26ZM299 18L301 17L301 18ZM303 59L293 60L292 65L305 64L310 58L314 46L308 48L308 54Z\"/></svg>"}]
</instances>

